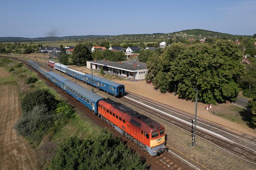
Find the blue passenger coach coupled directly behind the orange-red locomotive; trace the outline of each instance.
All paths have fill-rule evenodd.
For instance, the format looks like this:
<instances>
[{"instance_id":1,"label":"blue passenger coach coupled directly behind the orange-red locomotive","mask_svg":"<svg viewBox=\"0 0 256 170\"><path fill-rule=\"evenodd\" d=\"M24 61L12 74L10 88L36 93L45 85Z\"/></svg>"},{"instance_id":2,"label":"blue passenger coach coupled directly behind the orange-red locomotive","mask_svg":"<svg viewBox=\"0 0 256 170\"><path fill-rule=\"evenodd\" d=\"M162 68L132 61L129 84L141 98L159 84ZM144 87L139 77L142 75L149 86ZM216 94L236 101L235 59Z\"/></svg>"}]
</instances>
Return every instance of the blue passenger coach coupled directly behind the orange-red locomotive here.
<instances>
[{"instance_id":1,"label":"blue passenger coach coupled directly behind the orange-red locomotive","mask_svg":"<svg viewBox=\"0 0 256 170\"><path fill-rule=\"evenodd\" d=\"M86 107L91 109L94 113L98 114L98 102L103 99L103 97L91 92L88 89L74 83L73 81L65 81L65 91L84 104Z\"/></svg>"}]
</instances>

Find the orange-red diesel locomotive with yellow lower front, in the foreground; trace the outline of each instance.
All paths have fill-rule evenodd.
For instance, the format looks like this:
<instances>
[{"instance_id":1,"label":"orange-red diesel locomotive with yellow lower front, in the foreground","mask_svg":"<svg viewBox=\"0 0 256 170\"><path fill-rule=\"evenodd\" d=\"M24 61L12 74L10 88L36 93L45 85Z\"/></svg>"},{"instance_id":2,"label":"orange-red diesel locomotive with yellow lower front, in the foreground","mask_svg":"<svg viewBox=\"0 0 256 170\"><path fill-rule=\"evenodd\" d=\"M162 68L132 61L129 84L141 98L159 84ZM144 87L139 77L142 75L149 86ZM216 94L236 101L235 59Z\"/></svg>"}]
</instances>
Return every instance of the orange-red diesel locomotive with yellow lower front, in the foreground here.
<instances>
[{"instance_id":1,"label":"orange-red diesel locomotive with yellow lower front, in the foreground","mask_svg":"<svg viewBox=\"0 0 256 170\"><path fill-rule=\"evenodd\" d=\"M98 112L104 121L151 156L166 149L165 128L155 120L111 99L100 100Z\"/></svg>"}]
</instances>

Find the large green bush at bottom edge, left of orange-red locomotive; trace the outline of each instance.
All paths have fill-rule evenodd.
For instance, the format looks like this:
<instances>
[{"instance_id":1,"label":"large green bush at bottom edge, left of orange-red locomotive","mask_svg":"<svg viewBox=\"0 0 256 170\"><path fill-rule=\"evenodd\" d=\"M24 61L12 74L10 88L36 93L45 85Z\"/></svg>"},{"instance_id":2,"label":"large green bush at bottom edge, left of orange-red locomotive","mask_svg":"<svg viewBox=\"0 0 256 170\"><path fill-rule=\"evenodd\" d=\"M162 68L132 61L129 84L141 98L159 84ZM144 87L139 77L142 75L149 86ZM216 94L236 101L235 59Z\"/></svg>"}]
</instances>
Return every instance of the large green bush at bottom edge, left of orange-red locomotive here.
<instances>
[{"instance_id":1,"label":"large green bush at bottom edge, left of orange-red locomotive","mask_svg":"<svg viewBox=\"0 0 256 170\"><path fill-rule=\"evenodd\" d=\"M146 162L110 132L93 140L71 136L55 150L49 169L145 169Z\"/></svg>"}]
</instances>

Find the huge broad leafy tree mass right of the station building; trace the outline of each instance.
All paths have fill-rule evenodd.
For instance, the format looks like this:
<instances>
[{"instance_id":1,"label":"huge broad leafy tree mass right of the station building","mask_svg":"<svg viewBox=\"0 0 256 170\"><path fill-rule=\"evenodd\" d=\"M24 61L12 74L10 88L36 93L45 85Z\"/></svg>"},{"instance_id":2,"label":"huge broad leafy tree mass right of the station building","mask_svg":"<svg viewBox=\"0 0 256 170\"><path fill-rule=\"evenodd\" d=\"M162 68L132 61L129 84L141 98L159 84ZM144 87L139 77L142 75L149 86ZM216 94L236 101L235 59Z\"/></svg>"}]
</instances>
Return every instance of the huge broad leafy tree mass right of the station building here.
<instances>
[{"instance_id":1,"label":"huge broad leafy tree mass right of the station building","mask_svg":"<svg viewBox=\"0 0 256 170\"><path fill-rule=\"evenodd\" d=\"M244 72L240 61L241 52L233 42L217 40L212 46L197 43L188 47L172 43L158 61L153 60L160 64L147 63L147 79L152 80L155 74L153 85L162 92L173 91L174 84L178 84L182 98L195 100L197 88L198 101L234 101L240 91L237 78Z\"/></svg>"}]
</instances>

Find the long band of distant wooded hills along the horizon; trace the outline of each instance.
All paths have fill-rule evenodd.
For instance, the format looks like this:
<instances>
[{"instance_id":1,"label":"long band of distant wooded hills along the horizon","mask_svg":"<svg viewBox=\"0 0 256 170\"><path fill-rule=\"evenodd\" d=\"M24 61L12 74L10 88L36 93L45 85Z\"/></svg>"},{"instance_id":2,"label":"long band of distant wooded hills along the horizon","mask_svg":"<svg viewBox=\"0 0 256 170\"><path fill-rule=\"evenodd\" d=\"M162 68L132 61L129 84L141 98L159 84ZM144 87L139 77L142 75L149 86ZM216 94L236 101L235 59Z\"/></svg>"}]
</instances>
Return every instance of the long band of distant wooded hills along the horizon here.
<instances>
[{"instance_id":1,"label":"long band of distant wooded hills along the horizon","mask_svg":"<svg viewBox=\"0 0 256 170\"><path fill-rule=\"evenodd\" d=\"M214 37L217 38L239 38L243 37L252 37L251 35L232 35L227 33L220 33L215 31L209 31L204 29L187 29L182 31L177 31L173 33L153 33L153 34L123 34L123 35L81 35L81 36L63 36L63 37L38 37L38 38L25 38L25 37L0 37L0 42L33 42L33 41L61 41L61 40L86 40L86 39L93 39L93 40L100 40L103 41L106 38L108 40L128 40L128 41L151 41L155 40L166 40L170 38L170 36L177 36L177 35L184 35L187 34L193 38L200 38L200 37ZM183 38L183 36L182 36ZM185 38L185 36L184 36ZM186 37L187 38L187 37Z\"/></svg>"}]
</instances>

